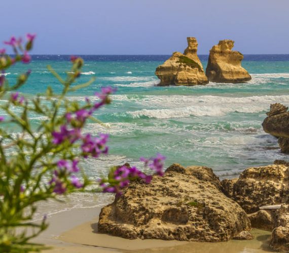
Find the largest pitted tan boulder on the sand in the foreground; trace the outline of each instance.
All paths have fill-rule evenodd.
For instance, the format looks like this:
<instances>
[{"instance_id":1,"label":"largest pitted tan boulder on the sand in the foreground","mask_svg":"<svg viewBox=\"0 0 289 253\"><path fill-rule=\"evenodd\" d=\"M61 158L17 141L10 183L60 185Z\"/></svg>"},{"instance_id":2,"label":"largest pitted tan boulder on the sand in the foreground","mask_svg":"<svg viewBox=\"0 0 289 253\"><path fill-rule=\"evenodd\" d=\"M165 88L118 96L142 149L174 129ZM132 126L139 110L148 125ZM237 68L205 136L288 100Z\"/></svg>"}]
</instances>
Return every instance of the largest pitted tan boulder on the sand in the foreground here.
<instances>
[{"instance_id":1,"label":"largest pitted tan boulder on the sand in the foreground","mask_svg":"<svg viewBox=\"0 0 289 253\"><path fill-rule=\"evenodd\" d=\"M249 230L250 222L220 187L210 168L173 164L165 176L133 182L103 207L98 230L128 239L229 240Z\"/></svg>"}]
</instances>

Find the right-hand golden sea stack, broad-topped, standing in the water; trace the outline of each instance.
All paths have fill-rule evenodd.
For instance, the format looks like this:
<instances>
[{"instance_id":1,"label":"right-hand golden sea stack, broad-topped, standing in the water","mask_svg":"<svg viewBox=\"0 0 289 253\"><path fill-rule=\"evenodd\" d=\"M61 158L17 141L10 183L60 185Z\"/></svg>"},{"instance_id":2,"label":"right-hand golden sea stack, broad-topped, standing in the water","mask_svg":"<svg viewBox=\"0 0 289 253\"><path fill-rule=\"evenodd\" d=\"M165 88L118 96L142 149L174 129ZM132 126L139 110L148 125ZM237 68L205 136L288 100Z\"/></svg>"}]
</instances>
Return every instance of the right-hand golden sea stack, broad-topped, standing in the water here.
<instances>
[{"instance_id":1,"label":"right-hand golden sea stack, broad-topped, standing in the water","mask_svg":"<svg viewBox=\"0 0 289 253\"><path fill-rule=\"evenodd\" d=\"M249 73L241 66L244 56L232 51L234 41L220 40L210 50L206 76L212 82L241 83L251 79Z\"/></svg>"}]
</instances>

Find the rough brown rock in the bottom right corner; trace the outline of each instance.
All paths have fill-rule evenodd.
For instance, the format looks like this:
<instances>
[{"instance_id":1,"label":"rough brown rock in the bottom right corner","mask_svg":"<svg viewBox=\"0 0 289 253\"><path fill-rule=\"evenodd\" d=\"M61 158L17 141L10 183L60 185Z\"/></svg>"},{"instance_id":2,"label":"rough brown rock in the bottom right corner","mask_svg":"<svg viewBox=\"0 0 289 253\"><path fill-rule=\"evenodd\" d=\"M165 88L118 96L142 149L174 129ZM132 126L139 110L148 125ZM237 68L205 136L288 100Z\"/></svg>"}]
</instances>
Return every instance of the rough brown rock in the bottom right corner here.
<instances>
[{"instance_id":1,"label":"rough brown rock in the bottom right corner","mask_svg":"<svg viewBox=\"0 0 289 253\"><path fill-rule=\"evenodd\" d=\"M276 228L272 231L270 246L274 250L289 252L289 207L282 205L276 211Z\"/></svg>"}]
</instances>

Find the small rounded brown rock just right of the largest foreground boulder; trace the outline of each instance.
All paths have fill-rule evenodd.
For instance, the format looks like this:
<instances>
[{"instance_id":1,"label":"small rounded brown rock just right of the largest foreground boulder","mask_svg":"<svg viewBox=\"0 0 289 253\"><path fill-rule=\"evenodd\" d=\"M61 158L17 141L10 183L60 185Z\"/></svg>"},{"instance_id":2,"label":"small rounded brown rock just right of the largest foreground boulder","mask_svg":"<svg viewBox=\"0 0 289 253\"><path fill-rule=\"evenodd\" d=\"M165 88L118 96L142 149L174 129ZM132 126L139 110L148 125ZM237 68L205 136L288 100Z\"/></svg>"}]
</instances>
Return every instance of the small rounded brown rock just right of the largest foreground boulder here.
<instances>
[{"instance_id":1,"label":"small rounded brown rock just right of the largest foreground boulder","mask_svg":"<svg viewBox=\"0 0 289 253\"><path fill-rule=\"evenodd\" d=\"M272 231L275 227L274 213L275 211L259 210L248 215L252 228Z\"/></svg>"}]
</instances>

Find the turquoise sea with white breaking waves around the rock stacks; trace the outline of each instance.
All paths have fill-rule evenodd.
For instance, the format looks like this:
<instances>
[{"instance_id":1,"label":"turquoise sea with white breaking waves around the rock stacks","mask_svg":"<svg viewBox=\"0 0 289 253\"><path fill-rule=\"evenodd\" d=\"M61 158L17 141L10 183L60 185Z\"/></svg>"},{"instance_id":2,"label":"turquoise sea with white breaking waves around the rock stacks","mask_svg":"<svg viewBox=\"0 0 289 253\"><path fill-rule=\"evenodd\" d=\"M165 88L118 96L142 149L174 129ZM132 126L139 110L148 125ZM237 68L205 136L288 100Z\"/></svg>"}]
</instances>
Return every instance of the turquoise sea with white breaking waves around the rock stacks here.
<instances>
[{"instance_id":1,"label":"turquoise sea with white breaking waves around the rock stacks","mask_svg":"<svg viewBox=\"0 0 289 253\"><path fill-rule=\"evenodd\" d=\"M89 121L85 132L110 135L110 151L81 165L91 180L103 177L113 165L129 162L142 170L139 157L161 153L172 163L211 167L221 179L234 178L247 167L288 160L277 139L266 134L262 122L270 104L289 105L289 55L244 55L242 66L251 74L247 83L210 82L205 86L158 87L155 69L169 55L83 55L79 82L96 77L87 88L70 93L71 101L95 100L101 87L117 88L111 105L95 113L102 124ZM199 56L204 69L208 55ZM19 92L26 97L44 94L50 86L57 93L61 84L49 72L51 65L61 77L71 66L67 55L33 55L28 65L18 64L6 77L31 69L28 82ZM34 124L45 120L31 115ZM71 208L103 206L112 194L81 192L40 205L35 219Z\"/></svg>"}]
</instances>

